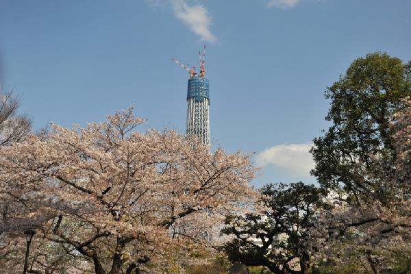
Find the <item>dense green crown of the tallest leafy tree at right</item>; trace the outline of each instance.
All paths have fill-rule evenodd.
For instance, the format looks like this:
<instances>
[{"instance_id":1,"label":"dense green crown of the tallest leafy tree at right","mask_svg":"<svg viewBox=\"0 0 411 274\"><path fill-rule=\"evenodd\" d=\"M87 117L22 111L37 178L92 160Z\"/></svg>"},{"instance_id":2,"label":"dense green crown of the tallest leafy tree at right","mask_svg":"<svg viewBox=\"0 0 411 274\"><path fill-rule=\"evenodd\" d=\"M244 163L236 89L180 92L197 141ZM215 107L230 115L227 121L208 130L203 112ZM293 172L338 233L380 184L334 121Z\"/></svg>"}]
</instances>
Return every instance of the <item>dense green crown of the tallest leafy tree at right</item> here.
<instances>
[{"instance_id":1,"label":"dense green crown of the tallest leafy tree at right","mask_svg":"<svg viewBox=\"0 0 411 274\"><path fill-rule=\"evenodd\" d=\"M312 174L321 186L346 190L352 203L358 195L369 195L375 183L382 184L364 173L373 170L371 155L395 158L389 125L392 114L405 107L401 99L410 95L411 62L377 52L349 66L325 92L332 100L326 116L332 126L314 139L311 150L316 162ZM382 202L390 196L388 189L373 194Z\"/></svg>"}]
</instances>

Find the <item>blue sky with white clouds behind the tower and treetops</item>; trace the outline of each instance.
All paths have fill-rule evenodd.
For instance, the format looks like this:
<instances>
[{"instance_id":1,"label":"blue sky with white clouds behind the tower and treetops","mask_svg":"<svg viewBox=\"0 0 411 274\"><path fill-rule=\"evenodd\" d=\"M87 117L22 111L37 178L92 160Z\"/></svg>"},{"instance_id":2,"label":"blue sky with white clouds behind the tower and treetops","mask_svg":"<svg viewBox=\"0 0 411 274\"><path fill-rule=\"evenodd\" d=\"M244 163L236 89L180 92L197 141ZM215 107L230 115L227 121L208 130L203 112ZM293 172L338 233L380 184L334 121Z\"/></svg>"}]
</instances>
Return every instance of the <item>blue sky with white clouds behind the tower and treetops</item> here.
<instances>
[{"instance_id":1,"label":"blue sky with white clouds behind the tower and treetops","mask_svg":"<svg viewBox=\"0 0 411 274\"><path fill-rule=\"evenodd\" d=\"M409 0L20 1L0 4L0 81L36 129L115 110L184 132L188 73L207 45L214 147L256 153L254 184L315 182L323 94L359 56L411 60Z\"/></svg>"}]
</instances>

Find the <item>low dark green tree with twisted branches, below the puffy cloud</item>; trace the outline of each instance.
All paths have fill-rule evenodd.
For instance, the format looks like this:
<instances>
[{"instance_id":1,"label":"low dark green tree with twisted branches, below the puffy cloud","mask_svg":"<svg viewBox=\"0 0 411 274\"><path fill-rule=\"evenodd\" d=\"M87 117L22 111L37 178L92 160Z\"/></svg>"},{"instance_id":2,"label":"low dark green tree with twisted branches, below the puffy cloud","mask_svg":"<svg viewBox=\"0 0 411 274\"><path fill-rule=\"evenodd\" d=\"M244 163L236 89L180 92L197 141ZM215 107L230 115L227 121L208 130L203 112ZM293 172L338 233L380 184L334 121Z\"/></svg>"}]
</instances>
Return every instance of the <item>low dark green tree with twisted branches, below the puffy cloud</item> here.
<instances>
[{"instance_id":1,"label":"low dark green tree with twisted branches, below the puffy cloud","mask_svg":"<svg viewBox=\"0 0 411 274\"><path fill-rule=\"evenodd\" d=\"M306 273L310 258L304 243L308 229L316 223L315 208L325 206L325 192L299 182L269 184L262 188L262 195L262 202L271 209L268 212L227 216L223 233L236 236L225 246L230 260L266 266L273 273ZM251 236L260 240L260 245ZM299 264L301 272L292 270L292 263Z\"/></svg>"}]
</instances>

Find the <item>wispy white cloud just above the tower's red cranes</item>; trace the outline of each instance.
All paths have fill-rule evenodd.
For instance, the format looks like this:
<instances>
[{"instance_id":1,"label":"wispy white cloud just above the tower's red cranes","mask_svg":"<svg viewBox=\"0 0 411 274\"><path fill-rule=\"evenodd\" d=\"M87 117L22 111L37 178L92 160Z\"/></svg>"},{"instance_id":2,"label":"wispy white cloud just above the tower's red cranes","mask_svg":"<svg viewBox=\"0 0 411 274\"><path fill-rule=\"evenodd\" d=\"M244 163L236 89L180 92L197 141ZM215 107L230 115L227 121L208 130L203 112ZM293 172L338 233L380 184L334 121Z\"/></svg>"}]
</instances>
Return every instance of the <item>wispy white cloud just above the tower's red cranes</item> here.
<instances>
[{"instance_id":1,"label":"wispy white cloud just above the tower's red cranes","mask_svg":"<svg viewBox=\"0 0 411 274\"><path fill-rule=\"evenodd\" d=\"M201 40L216 41L216 36L210 30L212 18L203 5L188 5L186 0L171 0L171 3L173 4L175 17L183 21L192 32L200 36Z\"/></svg>"}]
</instances>

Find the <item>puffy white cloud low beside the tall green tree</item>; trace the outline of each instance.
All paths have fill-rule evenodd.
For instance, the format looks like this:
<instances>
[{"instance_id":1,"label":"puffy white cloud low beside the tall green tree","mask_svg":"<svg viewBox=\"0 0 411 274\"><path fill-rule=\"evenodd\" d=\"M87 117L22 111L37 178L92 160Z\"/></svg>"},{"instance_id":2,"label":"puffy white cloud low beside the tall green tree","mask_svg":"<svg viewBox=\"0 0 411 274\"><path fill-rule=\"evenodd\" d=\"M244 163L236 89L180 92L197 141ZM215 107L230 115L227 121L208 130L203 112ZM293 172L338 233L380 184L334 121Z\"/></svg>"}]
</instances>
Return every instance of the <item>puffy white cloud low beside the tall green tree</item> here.
<instances>
[{"instance_id":1,"label":"puffy white cloud low beside the tall green tree","mask_svg":"<svg viewBox=\"0 0 411 274\"><path fill-rule=\"evenodd\" d=\"M256 155L258 166L273 164L288 175L309 176L314 160L309 152L312 144L275 145Z\"/></svg>"}]
</instances>

